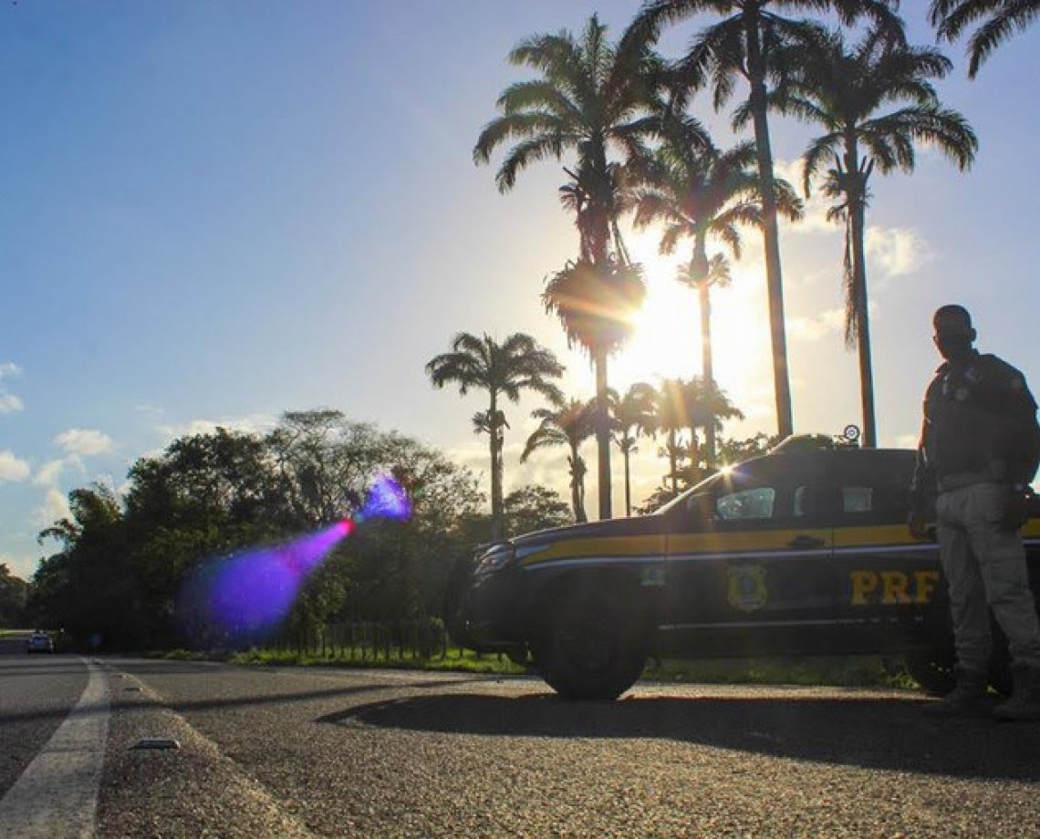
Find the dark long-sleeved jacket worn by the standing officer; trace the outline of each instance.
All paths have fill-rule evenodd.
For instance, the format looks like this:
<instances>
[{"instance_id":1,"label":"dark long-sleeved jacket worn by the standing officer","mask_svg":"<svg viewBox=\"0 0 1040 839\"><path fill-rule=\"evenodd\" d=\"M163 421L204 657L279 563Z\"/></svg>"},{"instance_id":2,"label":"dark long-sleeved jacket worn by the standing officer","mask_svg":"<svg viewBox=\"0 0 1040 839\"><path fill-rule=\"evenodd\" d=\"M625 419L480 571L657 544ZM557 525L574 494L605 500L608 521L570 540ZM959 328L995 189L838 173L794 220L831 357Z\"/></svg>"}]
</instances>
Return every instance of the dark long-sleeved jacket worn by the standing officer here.
<instances>
[{"instance_id":1,"label":"dark long-sleeved jacket worn by the standing officer","mask_svg":"<svg viewBox=\"0 0 1040 839\"><path fill-rule=\"evenodd\" d=\"M1025 377L996 356L972 349L965 360L943 364L925 394L915 496L959 475L1032 481L1040 462L1036 410Z\"/></svg>"}]
</instances>

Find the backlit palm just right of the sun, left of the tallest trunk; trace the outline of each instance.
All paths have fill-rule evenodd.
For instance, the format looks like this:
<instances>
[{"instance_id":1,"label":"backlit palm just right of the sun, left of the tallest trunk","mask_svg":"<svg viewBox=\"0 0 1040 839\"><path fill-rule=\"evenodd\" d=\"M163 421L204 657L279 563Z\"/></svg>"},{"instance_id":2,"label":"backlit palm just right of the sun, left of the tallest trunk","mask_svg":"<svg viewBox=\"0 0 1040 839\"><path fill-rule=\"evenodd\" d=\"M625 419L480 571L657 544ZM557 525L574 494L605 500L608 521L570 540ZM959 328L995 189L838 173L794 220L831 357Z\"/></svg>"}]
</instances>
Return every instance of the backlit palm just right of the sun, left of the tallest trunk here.
<instances>
[{"instance_id":1,"label":"backlit palm just right of the sun, left of the tallest trunk","mask_svg":"<svg viewBox=\"0 0 1040 839\"><path fill-rule=\"evenodd\" d=\"M675 121L665 133L665 142L653 157L641 161L635 189L634 224L645 228L664 224L660 253L674 253L680 239L693 240L688 265L678 280L698 293L701 315L701 373L714 382L711 357L710 290L730 282L729 262L723 254L710 258L709 238L719 239L734 259L742 255L739 228L761 228L762 201L759 180L753 169L754 146L739 143L727 152L711 145L692 120ZM781 179L775 183L777 210L785 217L802 217L802 202ZM707 463L716 457L716 429L707 424Z\"/></svg>"}]
</instances>

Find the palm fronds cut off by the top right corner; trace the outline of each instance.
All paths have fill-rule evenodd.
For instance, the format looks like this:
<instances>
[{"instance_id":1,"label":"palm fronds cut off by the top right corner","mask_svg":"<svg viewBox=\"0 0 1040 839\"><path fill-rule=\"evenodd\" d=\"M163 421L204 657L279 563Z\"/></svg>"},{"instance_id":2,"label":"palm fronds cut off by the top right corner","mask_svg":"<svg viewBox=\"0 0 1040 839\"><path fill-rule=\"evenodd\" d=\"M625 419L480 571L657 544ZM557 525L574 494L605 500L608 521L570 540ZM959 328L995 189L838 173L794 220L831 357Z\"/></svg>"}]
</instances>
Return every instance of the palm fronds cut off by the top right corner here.
<instances>
[{"instance_id":1,"label":"palm fronds cut off by the top right corner","mask_svg":"<svg viewBox=\"0 0 1040 839\"><path fill-rule=\"evenodd\" d=\"M968 26L986 19L968 40L968 77L1015 32L1040 16L1040 0L932 0L929 22L940 41L954 41Z\"/></svg>"}]
</instances>

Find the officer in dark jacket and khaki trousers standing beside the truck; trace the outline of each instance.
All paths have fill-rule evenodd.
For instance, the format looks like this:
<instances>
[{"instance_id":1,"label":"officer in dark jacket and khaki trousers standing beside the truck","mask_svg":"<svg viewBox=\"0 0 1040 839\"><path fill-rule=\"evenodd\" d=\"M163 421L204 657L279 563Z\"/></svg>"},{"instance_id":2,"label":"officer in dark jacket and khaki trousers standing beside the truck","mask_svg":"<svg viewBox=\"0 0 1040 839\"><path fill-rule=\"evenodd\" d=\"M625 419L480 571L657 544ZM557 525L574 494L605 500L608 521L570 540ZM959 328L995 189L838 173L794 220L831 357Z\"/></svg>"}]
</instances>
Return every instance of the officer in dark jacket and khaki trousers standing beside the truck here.
<instances>
[{"instance_id":1,"label":"officer in dark jacket and khaki trousers standing beside the truck","mask_svg":"<svg viewBox=\"0 0 1040 839\"><path fill-rule=\"evenodd\" d=\"M1008 636L1014 675L1000 719L1040 718L1040 622L1018 534L1029 517L1030 482L1040 463L1037 403L1025 378L972 344L961 306L935 313L935 345L945 363L925 395L910 530L925 535L935 494L936 529L957 649L957 686L931 715L989 713L990 608Z\"/></svg>"}]
</instances>

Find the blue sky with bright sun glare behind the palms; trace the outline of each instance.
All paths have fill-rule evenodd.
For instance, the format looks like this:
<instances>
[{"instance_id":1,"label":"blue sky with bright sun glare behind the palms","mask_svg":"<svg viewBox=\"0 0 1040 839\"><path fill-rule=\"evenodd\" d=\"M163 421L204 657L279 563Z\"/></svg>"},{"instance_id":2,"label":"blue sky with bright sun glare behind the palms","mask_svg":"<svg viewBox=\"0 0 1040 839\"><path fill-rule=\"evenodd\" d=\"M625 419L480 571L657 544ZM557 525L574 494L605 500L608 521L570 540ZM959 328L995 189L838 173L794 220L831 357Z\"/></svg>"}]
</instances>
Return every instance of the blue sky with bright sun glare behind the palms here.
<instances>
[{"instance_id":1,"label":"blue sky with bright sun glare behind the palms","mask_svg":"<svg viewBox=\"0 0 1040 839\"><path fill-rule=\"evenodd\" d=\"M531 72L505 57L539 32L598 12L620 36L638 0L20 0L0 7L0 562L31 576L55 545L40 530L68 493L119 490L138 457L217 425L263 432L285 411L339 409L444 450L487 482L482 396L435 390L425 363L459 332L523 332L591 396L588 359L546 315L545 278L576 256L546 161L499 194L472 149L495 101ZM932 44L926 4L903 3ZM674 57L707 23L670 30ZM967 306L980 348L1040 388L1040 29L966 77L963 43L943 103L974 127L974 166L920 149L912 176L874 179L868 289L882 445L913 446L938 364L931 315ZM728 119L698 102L720 145ZM781 173L814 129L774 117ZM781 229L798 432L860 423L855 355L842 341L842 231L814 199ZM627 230L627 228L626 228ZM629 232L649 287L610 382L700 372L693 292L653 231ZM734 282L713 296L716 378L774 432L764 271L748 232ZM539 398L506 408L505 489L567 497L564 452L519 463ZM588 508L596 513L594 443ZM615 450L615 510L622 506ZM667 471L646 440L636 500Z\"/></svg>"}]
</instances>

